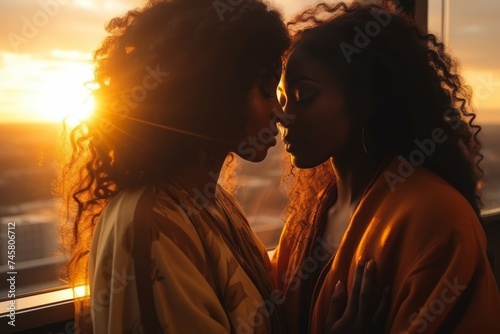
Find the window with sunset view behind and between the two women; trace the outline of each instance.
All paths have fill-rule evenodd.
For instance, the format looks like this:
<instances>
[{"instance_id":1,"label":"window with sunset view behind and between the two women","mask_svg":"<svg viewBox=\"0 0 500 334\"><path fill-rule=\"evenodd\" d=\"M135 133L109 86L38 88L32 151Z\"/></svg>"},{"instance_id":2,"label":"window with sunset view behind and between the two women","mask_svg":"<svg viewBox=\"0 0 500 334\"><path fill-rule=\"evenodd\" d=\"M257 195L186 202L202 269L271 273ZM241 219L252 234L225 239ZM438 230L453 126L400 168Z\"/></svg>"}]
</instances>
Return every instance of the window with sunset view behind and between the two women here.
<instances>
[{"instance_id":1,"label":"window with sunset view behind and between the two women","mask_svg":"<svg viewBox=\"0 0 500 334\"><path fill-rule=\"evenodd\" d=\"M287 18L316 0L272 0ZM83 82L92 78L91 53L104 36L111 17L140 0L2 0L0 3L0 274L15 270L18 307L37 309L71 299L61 289L65 264L58 253L57 206L51 183L55 178L56 141L62 116L81 117L91 108ZM402 3L412 2L400 1ZM475 90L479 123L483 125L486 171L486 214L500 213L500 68L496 57L500 22L495 0L429 0L417 3L417 19L429 30L448 38L461 60L463 74ZM422 8L428 5L428 13ZM428 14L428 15L427 15ZM279 187L281 141L260 164L241 162L237 199L251 225L269 248L281 232L284 195ZM498 216L496 216L498 223ZM16 257L8 257L9 223L16 222ZM500 226L500 224L496 224ZM12 244L12 241L10 241ZM497 243L498 244L498 243ZM500 250L497 255L497 268ZM59 254L59 255L58 255ZM9 268L9 260L15 262ZM8 312L10 285L0 286L0 332ZM68 294L69 293L69 294ZM44 299L45 298L45 299ZM57 304L64 311L25 313L23 328L64 321L71 323L71 302ZM62 306L61 306L62 305ZM3 312L3 313L2 313ZM56 317L54 318L54 315ZM31 317L31 319L30 319ZM36 319L35 319L36 318ZM28 327L26 327L28 326ZM66 327L67 328L67 327ZM16 327L16 330L21 330ZM49 331L49 330L47 330ZM66 330L67 331L67 330Z\"/></svg>"}]
</instances>

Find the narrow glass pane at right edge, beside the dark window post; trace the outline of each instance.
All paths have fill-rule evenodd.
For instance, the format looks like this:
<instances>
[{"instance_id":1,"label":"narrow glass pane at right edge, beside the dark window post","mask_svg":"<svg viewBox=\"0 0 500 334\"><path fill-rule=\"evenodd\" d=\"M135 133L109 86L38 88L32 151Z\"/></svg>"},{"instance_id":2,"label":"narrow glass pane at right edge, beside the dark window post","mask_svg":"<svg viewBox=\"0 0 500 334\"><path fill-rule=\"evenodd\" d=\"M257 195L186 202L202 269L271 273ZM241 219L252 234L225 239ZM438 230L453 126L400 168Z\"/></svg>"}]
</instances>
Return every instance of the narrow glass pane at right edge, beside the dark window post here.
<instances>
[{"instance_id":1,"label":"narrow glass pane at right edge, beside the dark window post","mask_svg":"<svg viewBox=\"0 0 500 334\"><path fill-rule=\"evenodd\" d=\"M500 2L449 1L449 48L461 63L462 74L474 91L486 172L486 209L500 207Z\"/></svg>"}]
</instances>

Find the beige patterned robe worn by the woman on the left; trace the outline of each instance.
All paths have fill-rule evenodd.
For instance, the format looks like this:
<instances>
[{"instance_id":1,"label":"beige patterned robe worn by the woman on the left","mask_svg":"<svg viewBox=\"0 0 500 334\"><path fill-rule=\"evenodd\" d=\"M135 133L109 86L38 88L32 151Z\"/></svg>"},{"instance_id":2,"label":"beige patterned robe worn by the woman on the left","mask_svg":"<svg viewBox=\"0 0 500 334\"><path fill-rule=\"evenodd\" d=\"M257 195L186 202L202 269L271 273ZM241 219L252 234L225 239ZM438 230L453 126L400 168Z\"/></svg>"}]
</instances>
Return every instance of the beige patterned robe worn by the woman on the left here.
<instances>
[{"instance_id":1,"label":"beige patterned robe worn by the woman on the left","mask_svg":"<svg viewBox=\"0 0 500 334\"><path fill-rule=\"evenodd\" d=\"M266 250L232 197L218 187L217 201L234 229L178 185L153 191L150 221L140 223L151 229L154 310L162 331L275 333L282 328ZM131 255L134 212L144 192L117 194L96 226L89 258L94 333L144 332Z\"/></svg>"}]
</instances>

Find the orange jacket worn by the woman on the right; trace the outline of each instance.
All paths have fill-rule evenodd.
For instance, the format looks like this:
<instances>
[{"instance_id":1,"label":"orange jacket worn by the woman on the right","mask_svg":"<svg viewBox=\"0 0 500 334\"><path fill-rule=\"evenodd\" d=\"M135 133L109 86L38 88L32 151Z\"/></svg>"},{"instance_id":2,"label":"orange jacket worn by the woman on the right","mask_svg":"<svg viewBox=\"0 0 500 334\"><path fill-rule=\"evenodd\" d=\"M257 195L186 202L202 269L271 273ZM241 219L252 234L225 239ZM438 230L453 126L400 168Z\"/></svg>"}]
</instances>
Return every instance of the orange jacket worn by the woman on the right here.
<instances>
[{"instance_id":1,"label":"orange jacket worn by the woman on the right","mask_svg":"<svg viewBox=\"0 0 500 334\"><path fill-rule=\"evenodd\" d=\"M365 192L330 261L317 251L329 205L311 224L285 227L273 269L290 333L304 333L304 323L323 332L335 284L347 282L350 291L361 255L374 259L380 291L390 285L386 332L500 333L500 293L476 214L450 184L402 161Z\"/></svg>"}]
</instances>

